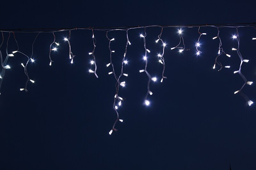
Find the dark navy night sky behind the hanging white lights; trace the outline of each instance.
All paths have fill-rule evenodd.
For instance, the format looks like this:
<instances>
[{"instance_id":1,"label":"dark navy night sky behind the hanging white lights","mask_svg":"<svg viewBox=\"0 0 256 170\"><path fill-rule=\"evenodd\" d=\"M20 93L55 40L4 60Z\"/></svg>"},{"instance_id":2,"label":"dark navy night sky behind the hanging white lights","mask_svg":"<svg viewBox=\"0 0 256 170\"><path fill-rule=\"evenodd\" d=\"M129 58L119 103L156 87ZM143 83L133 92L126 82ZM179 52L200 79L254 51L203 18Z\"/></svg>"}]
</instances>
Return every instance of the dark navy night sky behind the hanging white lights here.
<instances>
[{"instance_id":1,"label":"dark navy night sky behind the hanging white lights","mask_svg":"<svg viewBox=\"0 0 256 170\"><path fill-rule=\"evenodd\" d=\"M0 29L12 28L75 28L108 26L148 26L251 23L255 21L255 1L84 1L75 3L34 2L1 4ZM28 74L35 83L28 83L28 92L20 91L27 77L20 63L27 58L15 54L8 60L0 95L0 169L256 169L256 91L255 84L243 92L254 101L234 94L243 79L233 74L240 60L231 48L236 47L232 35L235 28L220 28L222 47L230 58L220 61L229 69L213 70L218 52L217 28L202 27L207 33L200 39L202 55L196 56L198 28L183 28L186 48L182 54L176 28L164 28L166 69L163 83L162 64L156 44L161 28L147 28L148 71L156 82L151 83L150 105L143 105L148 77L139 73L144 68L145 54L140 33L128 32L132 45L127 47L128 64L124 72L126 86L120 88L124 98L118 108L118 132L108 132L116 119L113 109L115 78L108 75L108 39L103 31L94 31L97 40L95 57L97 74L89 73L93 49L91 30L71 31L74 63L70 63L68 31L56 33L58 51L52 52L54 63L49 66L51 33L40 33L34 44L35 63L28 64ZM244 59L242 72L256 82L256 30L239 28L240 51ZM36 33L15 33L19 50L28 56ZM115 38L115 69L120 65L126 44L125 31L112 31ZM1 47L5 57L8 33ZM2 39L1 39L2 41ZM16 50L11 35L8 51ZM119 65L118 65L119 64ZM216 66L217 68L217 66Z\"/></svg>"}]
</instances>

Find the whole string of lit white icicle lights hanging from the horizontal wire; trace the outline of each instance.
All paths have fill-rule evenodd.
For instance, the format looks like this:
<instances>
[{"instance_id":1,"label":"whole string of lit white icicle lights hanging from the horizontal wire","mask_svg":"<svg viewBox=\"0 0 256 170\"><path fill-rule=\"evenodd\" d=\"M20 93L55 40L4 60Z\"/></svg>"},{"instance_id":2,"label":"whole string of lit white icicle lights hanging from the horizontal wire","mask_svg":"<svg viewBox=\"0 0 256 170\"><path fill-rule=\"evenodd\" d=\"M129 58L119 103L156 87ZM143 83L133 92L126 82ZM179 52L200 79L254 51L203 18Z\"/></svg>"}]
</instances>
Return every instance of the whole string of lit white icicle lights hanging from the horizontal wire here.
<instances>
[{"instance_id":1,"label":"whole string of lit white icicle lights hanging from the horizontal wire","mask_svg":"<svg viewBox=\"0 0 256 170\"><path fill-rule=\"evenodd\" d=\"M201 28L201 27L205 27L205 26L208 26L208 27L210 26L210 27L213 27L213 28L217 28L217 29L218 29L218 34L217 34L217 36L216 36L216 37L213 37L212 39L214 40L214 39L217 39L217 38L218 38L219 41L220 41L220 43L219 43L219 48L218 48L218 55L217 55L217 57L215 58L215 63L214 63L214 66L213 66L213 68L215 68L216 64L218 64L218 65L220 66L219 71L220 71L223 67L225 67L225 68L230 68L230 66L223 66L223 65L217 60L218 57L219 57L220 55L222 55L222 54L225 54L225 55L228 56L228 57L231 56L231 55L225 53L224 50L223 50L223 48L221 47L221 46L222 46L222 42L221 42L221 39L220 39L220 36L219 36L219 33L220 33L219 28L224 28L224 27L236 28L236 35L233 36L233 39L237 41L237 44L238 44L238 45L237 45L236 48L232 48L232 50L237 52L237 55L239 56L241 63L240 63L239 70L235 71L234 73L238 73L238 74L243 78L243 80L244 80L244 85L241 87L240 90L236 91L235 94L236 94L236 93L239 93L239 94L240 94L242 97L244 97L244 99L246 100L246 104L249 105L249 106L251 106L252 103L253 103L252 100L250 100L250 99L247 97L247 95L245 95L245 94L242 92L242 89L244 88L244 86L245 86L246 84L247 84L247 85L252 85L252 82L251 82L251 81L247 81L247 79L244 77L244 75L243 75L242 72L241 72L242 64L249 62L248 59L243 59L243 57L242 57L242 55L241 55L241 53L240 53L240 49L239 49L240 42L239 42L238 28L240 28L240 27L245 27L245 26L214 26L214 25L204 25L204 26L198 26L198 25L197 25L197 26L139 26L139 27L130 27L130 28L127 28L127 27L126 27L126 28L124 28L124 29L111 29L111 28L102 28L102 29L96 29L96 28L75 28L75 29L92 30L93 50L92 50L92 52L89 53L89 55L92 55L92 57L93 57L93 60L91 61L91 64L94 65L94 70L92 70L92 68L91 68L91 69L89 70L89 72L94 73L94 75L96 76L96 78L98 78L98 76L97 76L97 74L96 74L97 66L96 66L96 59L95 59L95 55L94 55L94 51L95 51L95 48L96 48L96 39L95 39L95 36L94 36L94 31L97 30L97 31L104 31L104 32L106 32L106 37L107 37L107 39L108 39L108 41L109 41L108 48L109 48L109 51L110 51L110 63L107 64L107 67L110 66L110 65L112 66L112 71L111 71L111 72L108 72L108 74L109 74L109 75L113 74L114 77L115 77L115 79L116 79L116 93L115 93L115 96L114 96L113 108L114 108L114 110L116 111L116 115L117 115L116 121L114 122L112 129L109 131L109 134L111 134L113 131L117 131L117 129L115 128L115 125L116 125L116 123L117 123L118 121L123 122L122 119L119 119L119 114L118 114L118 112L117 112L117 109L118 109L118 107L121 106L121 104L122 104L122 102L123 102L123 98L119 96L119 87L120 87L120 86L125 86L125 81L122 80L122 81L120 82L120 78L122 78L122 76L125 76L125 77L128 76L127 73L124 73L124 72L123 72L123 66L124 66L124 64L127 64L127 60L126 60L127 46L128 46L128 44L131 45L131 42L129 41L129 38L128 38L128 30L130 30L130 29L137 29L137 28L143 28L143 29L144 29L144 33L143 33L143 34L140 34L140 37L143 38L143 41L144 41L145 55L143 56L143 59L144 59L144 61L145 61L145 67L144 67L143 70L140 70L139 72L145 72L145 73L147 74L147 76L148 76L148 86L147 86L147 87L148 87L148 88L147 88L148 91L147 91L147 93L146 93L146 95L145 95L145 98L144 98L144 105L147 105L147 106L148 106L148 105L150 104L150 102L149 102L149 100L148 100L148 94L150 94L150 95L153 94L153 93L151 92L151 90L150 90L150 82L151 82L151 81L156 81L157 78L156 78L156 77L153 77L153 78L152 78L151 75L150 75L150 74L148 73L148 71L147 71L147 66L148 66L148 53L150 53L150 50L146 48L146 36L147 36L147 34L146 34L146 28L149 28L149 27L161 27L161 33L158 35L158 39L156 40L156 42L162 42L162 45L163 45L163 50L162 50L162 52L161 52L160 54L158 54L158 57L159 57L159 60L158 60L158 61L159 61L159 63L163 64L163 72L162 72L162 79L161 79L161 82L162 82L163 79L166 78L166 77L164 77L164 70L165 70L164 50L165 50L166 44L165 44L165 42L164 42L164 41L162 40L162 38L161 38L162 33L163 33L163 29L166 28L166 27L172 27L172 28L176 28L176 29L178 28L178 33L179 33L179 39L180 39L180 41L179 41L179 44L178 44L177 46L175 46L175 47L173 47L173 48L171 48L171 49L179 48L179 51L180 51L180 53L181 53L183 50L189 50L189 49L186 49L186 48L185 48L184 39L183 39L183 35L182 35L182 34L183 34L183 33L182 33L182 29L185 28L185 27L188 27L188 28L198 27L198 33L200 34L200 36L199 36L198 40L196 41L195 48L196 48L196 55L200 55L200 54L201 54L201 51L199 50L199 47L200 47L200 38L201 38L202 35L206 35L206 33L201 33L201 32L200 32L200 28ZM251 25L251 26L248 26L248 27L253 27L253 28L255 28L255 25ZM46 32L43 32L43 31L36 32L36 31L34 31L34 32L31 32L31 33L38 33L38 34L36 35L36 38L37 38L37 36L39 35L39 33L52 33L52 34L53 34L53 38L54 38L54 39L53 39L52 43L50 44L50 52L49 52L50 65L52 65L52 62L53 62L53 61L52 61L52 58L51 58L51 52L52 52L52 51L56 51L56 50L57 50L57 47L59 46L59 43L56 42L55 34L54 34L54 33L56 33L56 32L61 32L61 31L69 31L69 36L68 36L68 38L65 37L65 38L64 38L64 41L68 41L68 45L69 45L69 58L71 59L71 63L73 63L73 59L74 59L75 55L73 55L73 53L72 53L72 51L71 51L71 45L70 45L70 41L69 41L69 40L70 40L70 35L71 35L71 30L74 30L74 28L72 28L72 29L61 29L61 30L59 30L59 31L46 31ZM122 66L122 68L121 68L121 73L120 73L119 76L116 74L116 71L115 71L115 69L114 69L114 64L113 64L113 62L112 62L112 55L113 55L113 53L115 52L115 50L111 49L111 47L110 47L111 42L113 42L115 39L114 39L114 37L111 37L111 38L108 37L108 32L110 32L110 31L116 31L116 30L126 31L126 38L127 38L126 46L125 46L125 51L124 51L124 57L123 57L122 63L121 63L121 66ZM3 34L3 32L9 33L9 37L8 37L8 39L7 39L7 44L6 44L6 54L7 54L7 56L5 57L5 60L4 60L4 61L3 61L2 52L1 52L1 50L0 50L1 65L2 65L2 72L1 72L1 74L0 74L0 88L1 88L1 85L2 85L2 80L3 80L3 78L4 78L5 70L11 68L9 65L7 65L8 58L14 56L13 54L15 54L15 53L20 53L20 54L22 54L22 55L25 55L24 53L22 53L22 52L19 51L19 46L18 46L18 43L17 43L17 41L16 41L14 32L10 32L10 31L1 31L3 40L2 40L2 43L1 43L1 45L0 45L0 48L1 48L1 46L3 45L3 42L4 42L4 34ZM14 40L16 41L16 44L17 44L18 49L17 49L16 51L13 51L12 54L9 54L9 53L8 53L8 42L9 42L11 33L13 33L13 35L14 35ZM25 65L22 64L22 66L24 67L25 74L26 74L27 77L28 77L28 72L27 72L27 65L28 65L28 62L29 62L30 60L31 60L31 62L34 62L34 59L32 58L32 56L33 56L33 48L34 48L34 43L35 43L35 41L36 41L36 38L35 38L35 40L34 40L34 42L33 42L33 44L32 44L32 55L31 55L31 57L28 57L28 55L25 55L25 56L28 57L28 60L27 60L27 63L26 63ZM252 38L252 40L256 40L256 38L254 37L254 38ZM201 48L201 47L200 47L200 48ZM28 77L27 83L28 83L29 81L31 81L32 83L34 83L34 80L31 80L31 79ZM26 83L25 88L20 89L21 91L23 91L23 90L27 91L27 83ZM0 93L0 94L1 94L1 93Z\"/></svg>"}]
</instances>

